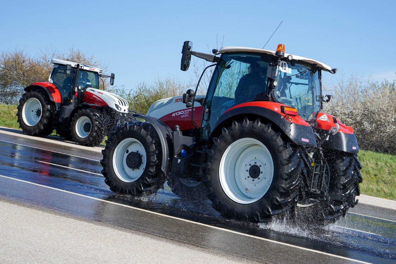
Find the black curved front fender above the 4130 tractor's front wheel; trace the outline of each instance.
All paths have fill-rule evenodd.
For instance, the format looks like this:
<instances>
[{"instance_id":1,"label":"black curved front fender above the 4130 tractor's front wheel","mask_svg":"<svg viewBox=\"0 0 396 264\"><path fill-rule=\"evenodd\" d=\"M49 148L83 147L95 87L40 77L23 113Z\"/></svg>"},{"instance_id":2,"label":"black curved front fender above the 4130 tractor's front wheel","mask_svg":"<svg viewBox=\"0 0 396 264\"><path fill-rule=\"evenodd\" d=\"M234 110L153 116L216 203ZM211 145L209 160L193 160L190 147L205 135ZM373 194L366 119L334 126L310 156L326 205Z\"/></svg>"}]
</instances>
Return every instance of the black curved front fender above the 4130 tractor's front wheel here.
<instances>
[{"instance_id":1,"label":"black curved front fender above the 4130 tractor's front wheel","mask_svg":"<svg viewBox=\"0 0 396 264\"><path fill-rule=\"evenodd\" d=\"M133 115L133 117L144 119L145 121L149 122L156 130L162 147L161 170L166 172L169 166L169 157L173 156L173 130L167 124L155 117L149 117L147 115ZM172 151L172 154L170 154L169 151Z\"/></svg>"}]
</instances>

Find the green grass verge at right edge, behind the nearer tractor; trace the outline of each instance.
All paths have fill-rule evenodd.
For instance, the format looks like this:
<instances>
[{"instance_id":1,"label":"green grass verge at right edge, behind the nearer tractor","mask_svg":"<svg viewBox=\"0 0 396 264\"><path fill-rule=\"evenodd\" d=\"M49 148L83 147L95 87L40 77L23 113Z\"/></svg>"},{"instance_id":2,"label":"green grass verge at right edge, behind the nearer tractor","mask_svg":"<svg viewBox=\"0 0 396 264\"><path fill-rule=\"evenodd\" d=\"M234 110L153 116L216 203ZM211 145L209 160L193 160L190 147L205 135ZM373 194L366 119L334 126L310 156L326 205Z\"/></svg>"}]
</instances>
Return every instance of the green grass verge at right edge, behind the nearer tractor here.
<instances>
[{"instance_id":1,"label":"green grass verge at right edge, behind the nearer tractor","mask_svg":"<svg viewBox=\"0 0 396 264\"><path fill-rule=\"evenodd\" d=\"M362 194L396 200L396 156L360 150Z\"/></svg>"}]
</instances>

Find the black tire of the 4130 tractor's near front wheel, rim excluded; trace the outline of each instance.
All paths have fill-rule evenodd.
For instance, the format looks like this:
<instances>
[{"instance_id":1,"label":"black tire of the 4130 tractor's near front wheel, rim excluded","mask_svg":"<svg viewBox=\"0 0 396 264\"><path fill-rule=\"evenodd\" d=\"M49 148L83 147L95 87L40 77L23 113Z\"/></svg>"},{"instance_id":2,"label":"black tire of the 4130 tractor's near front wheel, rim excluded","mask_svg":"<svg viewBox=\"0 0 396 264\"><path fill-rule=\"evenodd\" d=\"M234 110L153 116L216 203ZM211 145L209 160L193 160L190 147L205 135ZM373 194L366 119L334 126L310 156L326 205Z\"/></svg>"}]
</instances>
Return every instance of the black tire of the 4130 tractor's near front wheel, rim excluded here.
<instances>
[{"instance_id":1,"label":"black tire of the 4130 tractor's near front wheel, rim excluded","mask_svg":"<svg viewBox=\"0 0 396 264\"><path fill-rule=\"evenodd\" d=\"M126 138L135 138L146 150L146 166L143 174L134 182L124 182L114 172L112 160L117 145ZM161 171L162 150L160 139L155 129L147 122L118 126L106 140L106 148L102 150L102 174L110 190L120 194L141 196L152 194L164 186L165 175Z\"/></svg>"}]
</instances>

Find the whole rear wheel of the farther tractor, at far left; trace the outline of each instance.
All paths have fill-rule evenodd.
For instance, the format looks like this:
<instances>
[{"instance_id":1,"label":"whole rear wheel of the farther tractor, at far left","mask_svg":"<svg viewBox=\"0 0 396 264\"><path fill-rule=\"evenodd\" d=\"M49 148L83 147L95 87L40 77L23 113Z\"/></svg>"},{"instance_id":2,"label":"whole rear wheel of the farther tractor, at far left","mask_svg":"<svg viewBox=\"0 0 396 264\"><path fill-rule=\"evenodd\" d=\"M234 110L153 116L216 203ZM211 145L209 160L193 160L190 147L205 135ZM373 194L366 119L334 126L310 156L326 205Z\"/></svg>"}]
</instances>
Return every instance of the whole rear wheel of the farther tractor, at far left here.
<instances>
[{"instance_id":1,"label":"whole rear wheel of the farther tractor, at far left","mask_svg":"<svg viewBox=\"0 0 396 264\"><path fill-rule=\"evenodd\" d=\"M19 100L18 123L23 132L32 136L52 133L53 105L45 91L30 91Z\"/></svg>"}]
</instances>

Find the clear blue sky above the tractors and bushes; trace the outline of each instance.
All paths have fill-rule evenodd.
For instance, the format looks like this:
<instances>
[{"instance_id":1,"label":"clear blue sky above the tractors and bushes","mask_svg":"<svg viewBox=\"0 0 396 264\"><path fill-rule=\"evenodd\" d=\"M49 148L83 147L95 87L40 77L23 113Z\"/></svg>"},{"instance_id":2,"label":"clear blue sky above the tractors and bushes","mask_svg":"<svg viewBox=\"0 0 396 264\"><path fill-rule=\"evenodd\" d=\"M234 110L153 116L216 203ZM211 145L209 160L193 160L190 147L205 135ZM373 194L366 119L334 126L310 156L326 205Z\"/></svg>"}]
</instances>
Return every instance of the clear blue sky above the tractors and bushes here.
<instances>
[{"instance_id":1,"label":"clear blue sky above the tractors and bushes","mask_svg":"<svg viewBox=\"0 0 396 264\"><path fill-rule=\"evenodd\" d=\"M135 88L180 71L193 50L277 44L346 75L396 79L396 1L3 1L0 50L79 48L109 63L116 85ZM93 34L93 32L97 34ZM339 76L339 74L337 73ZM334 77L337 77L334 76ZM331 74L324 74L331 80Z\"/></svg>"}]
</instances>

